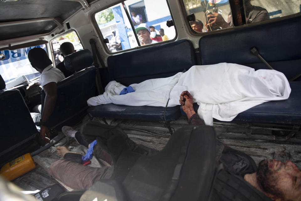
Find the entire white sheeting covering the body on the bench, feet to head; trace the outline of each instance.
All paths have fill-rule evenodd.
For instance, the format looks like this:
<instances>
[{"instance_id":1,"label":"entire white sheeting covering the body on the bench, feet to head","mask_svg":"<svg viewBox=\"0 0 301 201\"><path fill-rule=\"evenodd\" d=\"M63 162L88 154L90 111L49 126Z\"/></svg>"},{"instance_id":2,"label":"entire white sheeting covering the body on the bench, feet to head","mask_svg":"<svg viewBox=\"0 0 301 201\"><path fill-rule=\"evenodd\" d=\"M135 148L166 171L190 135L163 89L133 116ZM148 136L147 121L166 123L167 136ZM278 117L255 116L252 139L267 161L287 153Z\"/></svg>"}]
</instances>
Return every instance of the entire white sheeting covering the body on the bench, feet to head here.
<instances>
[{"instance_id":1,"label":"entire white sheeting covering the body on the bench, feet to head","mask_svg":"<svg viewBox=\"0 0 301 201\"><path fill-rule=\"evenodd\" d=\"M213 118L231 121L237 114L270 100L288 99L291 89L283 73L255 71L246 66L219 63L193 66L169 78L150 79L131 84L135 92L119 95L124 85L111 81L103 95L87 100L89 106L115 103L128 106L179 105L182 91L189 91L199 105L198 115L207 125Z\"/></svg>"}]
</instances>

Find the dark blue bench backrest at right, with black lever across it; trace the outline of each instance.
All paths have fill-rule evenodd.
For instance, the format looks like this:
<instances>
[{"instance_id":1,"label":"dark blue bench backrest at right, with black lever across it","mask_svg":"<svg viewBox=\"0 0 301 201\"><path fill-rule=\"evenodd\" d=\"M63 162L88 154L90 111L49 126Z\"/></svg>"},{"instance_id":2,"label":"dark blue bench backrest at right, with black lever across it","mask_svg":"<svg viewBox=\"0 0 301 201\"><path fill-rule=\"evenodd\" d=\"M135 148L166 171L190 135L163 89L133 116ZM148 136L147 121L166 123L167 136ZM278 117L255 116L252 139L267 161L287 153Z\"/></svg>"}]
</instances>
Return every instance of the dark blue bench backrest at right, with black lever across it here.
<instances>
[{"instance_id":1,"label":"dark blue bench backrest at right, with black lever across it","mask_svg":"<svg viewBox=\"0 0 301 201\"><path fill-rule=\"evenodd\" d=\"M202 65L221 62L267 69L251 54L256 47L261 56L288 79L301 73L301 16L259 24L238 30L204 35L199 40Z\"/></svg>"}]
</instances>

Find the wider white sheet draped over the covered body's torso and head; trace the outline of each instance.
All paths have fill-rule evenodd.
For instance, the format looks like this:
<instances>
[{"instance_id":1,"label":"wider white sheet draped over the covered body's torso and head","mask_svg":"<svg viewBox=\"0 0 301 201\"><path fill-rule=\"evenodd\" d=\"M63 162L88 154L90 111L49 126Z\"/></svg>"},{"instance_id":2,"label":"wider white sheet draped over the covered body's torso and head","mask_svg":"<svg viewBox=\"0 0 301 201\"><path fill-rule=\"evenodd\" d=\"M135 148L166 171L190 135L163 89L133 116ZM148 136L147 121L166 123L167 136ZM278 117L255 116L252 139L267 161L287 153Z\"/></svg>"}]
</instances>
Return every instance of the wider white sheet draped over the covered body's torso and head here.
<instances>
[{"instance_id":1,"label":"wider white sheet draped over the covered body's torso and head","mask_svg":"<svg viewBox=\"0 0 301 201\"><path fill-rule=\"evenodd\" d=\"M213 118L231 121L240 112L270 100L288 99L291 93L283 73L232 63L191 67L172 89L170 104L176 104L185 90L198 103L198 115L207 125L213 125Z\"/></svg>"}]
</instances>

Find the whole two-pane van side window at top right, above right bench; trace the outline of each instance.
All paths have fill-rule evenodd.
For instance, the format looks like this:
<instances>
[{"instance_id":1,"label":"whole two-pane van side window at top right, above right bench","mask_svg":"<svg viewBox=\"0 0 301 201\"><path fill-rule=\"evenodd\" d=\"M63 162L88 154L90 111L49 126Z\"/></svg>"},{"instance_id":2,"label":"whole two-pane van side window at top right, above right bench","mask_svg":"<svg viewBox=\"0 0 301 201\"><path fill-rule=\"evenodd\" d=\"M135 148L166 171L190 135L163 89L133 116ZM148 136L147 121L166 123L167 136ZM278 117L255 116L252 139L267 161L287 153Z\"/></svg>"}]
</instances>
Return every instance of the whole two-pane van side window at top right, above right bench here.
<instances>
[{"instance_id":1,"label":"whole two-pane van side window at top right, above right bench","mask_svg":"<svg viewBox=\"0 0 301 201\"><path fill-rule=\"evenodd\" d=\"M242 1L237 2L242 3ZM183 3L187 15L195 15L196 20L190 21L189 24L197 33L237 26L237 24L233 23L235 21L233 16L238 18L238 25L242 25L295 14L301 10L301 0L243 0L244 9L241 9L243 7L239 6L239 8L236 8L241 9L241 15L234 13L235 3L231 4L234 6L231 13L229 0L183 0Z\"/></svg>"}]
</instances>

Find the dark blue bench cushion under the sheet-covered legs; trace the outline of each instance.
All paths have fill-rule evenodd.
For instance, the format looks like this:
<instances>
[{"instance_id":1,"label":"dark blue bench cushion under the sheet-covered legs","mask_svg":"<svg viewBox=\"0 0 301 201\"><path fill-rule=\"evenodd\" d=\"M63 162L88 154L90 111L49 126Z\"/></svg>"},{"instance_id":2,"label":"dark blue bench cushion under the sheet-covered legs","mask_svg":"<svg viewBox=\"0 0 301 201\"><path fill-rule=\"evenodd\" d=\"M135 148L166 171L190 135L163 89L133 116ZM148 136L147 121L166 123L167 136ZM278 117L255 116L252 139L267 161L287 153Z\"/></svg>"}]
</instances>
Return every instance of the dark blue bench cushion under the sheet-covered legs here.
<instances>
[{"instance_id":1,"label":"dark blue bench cushion under the sheet-covered legs","mask_svg":"<svg viewBox=\"0 0 301 201\"><path fill-rule=\"evenodd\" d=\"M87 110L90 117L106 117L120 119L141 120L164 120L165 107L154 106L124 106L109 103L89 107ZM165 112L166 121L176 120L181 116L180 106L167 107Z\"/></svg>"}]
</instances>

